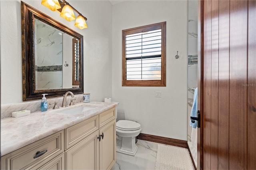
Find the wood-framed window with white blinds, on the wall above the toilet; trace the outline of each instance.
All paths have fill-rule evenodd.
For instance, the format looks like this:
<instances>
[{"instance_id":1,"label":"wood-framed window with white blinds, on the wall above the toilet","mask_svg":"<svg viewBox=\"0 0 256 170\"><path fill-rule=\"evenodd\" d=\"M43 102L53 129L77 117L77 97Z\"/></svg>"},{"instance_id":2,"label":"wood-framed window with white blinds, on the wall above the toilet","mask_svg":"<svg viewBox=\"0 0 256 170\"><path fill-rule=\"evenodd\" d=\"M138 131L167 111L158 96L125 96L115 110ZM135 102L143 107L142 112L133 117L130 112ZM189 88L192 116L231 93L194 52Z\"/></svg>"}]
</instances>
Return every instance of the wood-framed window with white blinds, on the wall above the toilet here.
<instances>
[{"instance_id":1,"label":"wood-framed window with white blinds, on the wall above the toilet","mask_svg":"<svg viewBox=\"0 0 256 170\"><path fill-rule=\"evenodd\" d=\"M122 86L166 86L166 22L122 30Z\"/></svg>"}]
</instances>

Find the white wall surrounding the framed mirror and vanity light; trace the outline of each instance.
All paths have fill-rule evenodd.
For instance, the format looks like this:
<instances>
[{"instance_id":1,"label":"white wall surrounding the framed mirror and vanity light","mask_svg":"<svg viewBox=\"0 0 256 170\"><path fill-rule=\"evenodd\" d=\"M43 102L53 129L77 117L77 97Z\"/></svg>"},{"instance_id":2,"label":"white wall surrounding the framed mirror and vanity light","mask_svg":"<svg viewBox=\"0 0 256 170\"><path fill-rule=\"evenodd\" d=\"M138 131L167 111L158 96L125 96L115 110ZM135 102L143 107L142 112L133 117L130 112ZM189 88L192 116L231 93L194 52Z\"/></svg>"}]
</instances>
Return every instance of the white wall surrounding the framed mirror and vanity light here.
<instances>
[{"instance_id":1,"label":"white wall surrounding the framed mirror and vanity light","mask_svg":"<svg viewBox=\"0 0 256 170\"><path fill-rule=\"evenodd\" d=\"M112 5L109 1L72 0L70 4L88 18L80 30L41 5L41 0L23 0L44 14L84 36L84 92L92 101L112 95ZM1 104L22 102L22 54L20 0L0 1ZM8 16L8 17L7 17ZM11 19L10 19L11 18Z\"/></svg>"}]
</instances>

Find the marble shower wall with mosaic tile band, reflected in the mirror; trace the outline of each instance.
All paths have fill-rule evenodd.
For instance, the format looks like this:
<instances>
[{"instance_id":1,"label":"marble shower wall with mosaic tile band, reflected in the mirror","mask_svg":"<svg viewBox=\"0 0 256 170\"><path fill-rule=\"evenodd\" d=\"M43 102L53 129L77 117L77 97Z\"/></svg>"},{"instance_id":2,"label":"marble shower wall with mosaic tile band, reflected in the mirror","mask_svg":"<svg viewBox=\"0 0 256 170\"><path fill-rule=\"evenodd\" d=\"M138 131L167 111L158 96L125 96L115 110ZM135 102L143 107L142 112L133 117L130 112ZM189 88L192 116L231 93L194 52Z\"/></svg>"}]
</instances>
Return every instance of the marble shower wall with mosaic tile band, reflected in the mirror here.
<instances>
[{"instance_id":1,"label":"marble shower wall with mosaic tile band, reflected in the mirror","mask_svg":"<svg viewBox=\"0 0 256 170\"><path fill-rule=\"evenodd\" d=\"M35 19L36 90L62 88L62 34Z\"/></svg>"}]
</instances>

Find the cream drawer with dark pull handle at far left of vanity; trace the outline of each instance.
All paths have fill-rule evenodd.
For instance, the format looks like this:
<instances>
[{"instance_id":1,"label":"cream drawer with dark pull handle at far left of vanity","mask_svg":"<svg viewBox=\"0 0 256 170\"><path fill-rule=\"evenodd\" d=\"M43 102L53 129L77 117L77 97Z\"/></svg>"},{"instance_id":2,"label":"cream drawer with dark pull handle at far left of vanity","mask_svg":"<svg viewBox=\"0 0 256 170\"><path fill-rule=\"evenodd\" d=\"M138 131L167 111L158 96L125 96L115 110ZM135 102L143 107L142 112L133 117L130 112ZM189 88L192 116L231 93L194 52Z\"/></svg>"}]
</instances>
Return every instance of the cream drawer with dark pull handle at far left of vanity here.
<instances>
[{"instance_id":1,"label":"cream drawer with dark pull handle at far left of vanity","mask_svg":"<svg viewBox=\"0 0 256 170\"><path fill-rule=\"evenodd\" d=\"M34 158L36 152L47 150L41 156ZM41 162L50 156L58 156L64 152L64 131L57 132L32 144L24 146L10 154L1 157L1 169L18 170ZM25 168L26 169L26 168Z\"/></svg>"}]
</instances>

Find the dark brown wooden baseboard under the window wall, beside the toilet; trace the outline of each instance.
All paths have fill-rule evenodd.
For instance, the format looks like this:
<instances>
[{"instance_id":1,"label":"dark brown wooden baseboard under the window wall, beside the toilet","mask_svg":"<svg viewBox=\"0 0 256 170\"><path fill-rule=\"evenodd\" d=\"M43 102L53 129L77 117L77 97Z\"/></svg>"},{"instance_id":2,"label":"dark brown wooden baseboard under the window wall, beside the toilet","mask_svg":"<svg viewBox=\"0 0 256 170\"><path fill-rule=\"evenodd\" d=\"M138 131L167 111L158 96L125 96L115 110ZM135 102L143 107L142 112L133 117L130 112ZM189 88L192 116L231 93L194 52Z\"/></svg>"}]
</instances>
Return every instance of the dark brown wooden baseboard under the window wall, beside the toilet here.
<instances>
[{"instance_id":1,"label":"dark brown wooden baseboard under the window wall, beside the toilet","mask_svg":"<svg viewBox=\"0 0 256 170\"><path fill-rule=\"evenodd\" d=\"M137 139L147 140L150 142L157 142L160 144L178 146L182 148L188 148L188 143L185 140L178 140L178 139L172 139L172 138L166 138L162 136L155 136L151 134L142 134L142 133L140 133L139 136L137 136Z\"/></svg>"}]
</instances>

